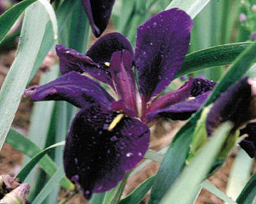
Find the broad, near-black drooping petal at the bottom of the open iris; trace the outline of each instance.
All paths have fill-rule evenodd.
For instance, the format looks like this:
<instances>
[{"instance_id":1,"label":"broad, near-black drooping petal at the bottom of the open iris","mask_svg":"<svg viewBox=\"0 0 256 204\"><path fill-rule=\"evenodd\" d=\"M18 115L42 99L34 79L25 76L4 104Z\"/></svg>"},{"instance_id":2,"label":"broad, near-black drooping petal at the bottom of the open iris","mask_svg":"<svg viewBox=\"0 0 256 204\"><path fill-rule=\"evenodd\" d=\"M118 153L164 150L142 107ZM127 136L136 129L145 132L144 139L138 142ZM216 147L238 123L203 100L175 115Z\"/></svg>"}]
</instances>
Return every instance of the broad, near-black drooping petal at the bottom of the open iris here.
<instances>
[{"instance_id":1,"label":"broad, near-black drooping petal at the bottom of the open iris","mask_svg":"<svg viewBox=\"0 0 256 204\"><path fill-rule=\"evenodd\" d=\"M87 199L94 192L115 187L148 148L149 129L138 119L123 117L108 130L116 116L117 113L99 106L81 109L67 136L65 173L80 185Z\"/></svg>"}]
</instances>

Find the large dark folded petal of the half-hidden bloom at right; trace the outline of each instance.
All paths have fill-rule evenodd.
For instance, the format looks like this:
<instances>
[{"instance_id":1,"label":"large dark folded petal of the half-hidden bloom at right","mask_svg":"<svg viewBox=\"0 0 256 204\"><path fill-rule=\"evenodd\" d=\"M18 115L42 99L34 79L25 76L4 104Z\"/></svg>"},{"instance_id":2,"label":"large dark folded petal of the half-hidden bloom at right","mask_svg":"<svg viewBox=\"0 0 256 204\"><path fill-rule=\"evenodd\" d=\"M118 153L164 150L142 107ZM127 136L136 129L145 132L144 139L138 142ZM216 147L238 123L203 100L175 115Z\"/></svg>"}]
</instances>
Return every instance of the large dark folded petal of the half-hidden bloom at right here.
<instances>
[{"instance_id":1,"label":"large dark folded petal of the half-hidden bloom at right","mask_svg":"<svg viewBox=\"0 0 256 204\"><path fill-rule=\"evenodd\" d=\"M206 130L208 135L222 123L230 120L235 123L234 129L252 119L254 111L250 108L252 101L251 85L247 78L241 79L218 98L208 113Z\"/></svg>"}]
</instances>

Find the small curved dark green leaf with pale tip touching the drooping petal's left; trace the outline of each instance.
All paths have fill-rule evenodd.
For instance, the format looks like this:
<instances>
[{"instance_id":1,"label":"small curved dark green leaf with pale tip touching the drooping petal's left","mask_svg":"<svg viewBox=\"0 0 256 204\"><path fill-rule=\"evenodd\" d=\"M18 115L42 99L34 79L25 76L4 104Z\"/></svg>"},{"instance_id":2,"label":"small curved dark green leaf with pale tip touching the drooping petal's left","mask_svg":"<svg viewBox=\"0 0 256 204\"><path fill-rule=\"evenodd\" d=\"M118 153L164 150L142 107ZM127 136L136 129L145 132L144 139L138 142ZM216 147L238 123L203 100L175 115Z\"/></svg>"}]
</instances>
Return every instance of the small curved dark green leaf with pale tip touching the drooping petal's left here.
<instances>
[{"instance_id":1,"label":"small curved dark green leaf with pale tip touching the drooping petal's left","mask_svg":"<svg viewBox=\"0 0 256 204\"><path fill-rule=\"evenodd\" d=\"M53 144L51 146L49 146L48 148L44 149L42 152L38 153L36 156L34 156L29 163L26 164L26 166L20 170L20 173L18 173L18 175L16 176L17 178L20 178L20 181L23 182L26 178L26 176L29 175L30 171L34 168L35 165L37 165L37 163L39 162L39 160L42 159L43 156L45 156L45 154L47 154L50 149L53 149L57 146L64 146L65 145L65 141L61 141L57 144Z\"/></svg>"}]
</instances>

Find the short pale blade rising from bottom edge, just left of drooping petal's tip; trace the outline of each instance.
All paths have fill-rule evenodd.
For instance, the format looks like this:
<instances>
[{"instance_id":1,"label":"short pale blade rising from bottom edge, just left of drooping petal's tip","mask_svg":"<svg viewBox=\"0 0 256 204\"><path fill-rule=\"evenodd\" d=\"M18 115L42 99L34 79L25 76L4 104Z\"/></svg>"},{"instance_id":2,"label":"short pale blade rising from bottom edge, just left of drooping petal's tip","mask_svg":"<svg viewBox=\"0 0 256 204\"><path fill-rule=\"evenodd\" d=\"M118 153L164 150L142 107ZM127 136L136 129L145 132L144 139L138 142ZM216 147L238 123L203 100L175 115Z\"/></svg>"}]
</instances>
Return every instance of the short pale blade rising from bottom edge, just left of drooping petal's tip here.
<instances>
[{"instance_id":1,"label":"short pale blade rising from bottom edge, just left of drooping petal's tip","mask_svg":"<svg viewBox=\"0 0 256 204\"><path fill-rule=\"evenodd\" d=\"M61 178L65 175L64 169L61 167L59 170L56 170L56 173L53 174L53 176L50 178L50 180L45 184L45 187L43 187L42 191L39 192L37 197L33 200L32 203L34 204L40 204L45 200L45 197L47 197L50 192L56 187L56 185L59 183Z\"/></svg>"}]
</instances>

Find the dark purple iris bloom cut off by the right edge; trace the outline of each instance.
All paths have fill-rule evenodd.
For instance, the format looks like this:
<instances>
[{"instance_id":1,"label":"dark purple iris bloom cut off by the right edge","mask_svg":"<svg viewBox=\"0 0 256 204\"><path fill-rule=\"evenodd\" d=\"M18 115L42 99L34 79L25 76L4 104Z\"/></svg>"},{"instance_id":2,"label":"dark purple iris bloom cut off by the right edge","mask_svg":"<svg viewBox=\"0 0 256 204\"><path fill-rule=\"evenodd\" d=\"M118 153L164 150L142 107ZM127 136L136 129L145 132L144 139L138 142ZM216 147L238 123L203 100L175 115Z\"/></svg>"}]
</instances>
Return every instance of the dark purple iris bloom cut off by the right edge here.
<instances>
[{"instance_id":1,"label":"dark purple iris bloom cut off by the right edge","mask_svg":"<svg viewBox=\"0 0 256 204\"><path fill-rule=\"evenodd\" d=\"M233 130L245 125L249 120L256 118L256 80L244 78L235 85L228 88L225 93L218 98L208 113L206 119L206 130L208 136L222 123L230 120L234 123ZM241 130L241 136L248 134L240 142L250 157L255 157L256 153L256 125L249 123Z\"/></svg>"}]
</instances>

